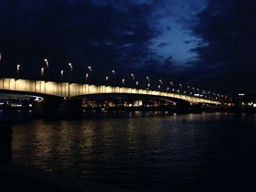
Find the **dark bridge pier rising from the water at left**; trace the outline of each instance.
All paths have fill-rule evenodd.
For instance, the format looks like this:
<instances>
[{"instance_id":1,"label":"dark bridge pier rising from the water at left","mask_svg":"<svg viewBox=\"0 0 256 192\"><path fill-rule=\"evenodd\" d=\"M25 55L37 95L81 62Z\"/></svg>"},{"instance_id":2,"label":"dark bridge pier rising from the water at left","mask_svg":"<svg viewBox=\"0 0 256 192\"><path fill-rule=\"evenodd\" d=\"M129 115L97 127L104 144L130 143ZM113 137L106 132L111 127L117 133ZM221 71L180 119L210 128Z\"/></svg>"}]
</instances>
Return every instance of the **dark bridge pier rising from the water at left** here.
<instances>
[{"instance_id":1,"label":"dark bridge pier rising from the water at left","mask_svg":"<svg viewBox=\"0 0 256 192\"><path fill-rule=\"evenodd\" d=\"M34 102L32 114L43 118L81 118L82 101L80 99L42 99Z\"/></svg>"}]
</instances>

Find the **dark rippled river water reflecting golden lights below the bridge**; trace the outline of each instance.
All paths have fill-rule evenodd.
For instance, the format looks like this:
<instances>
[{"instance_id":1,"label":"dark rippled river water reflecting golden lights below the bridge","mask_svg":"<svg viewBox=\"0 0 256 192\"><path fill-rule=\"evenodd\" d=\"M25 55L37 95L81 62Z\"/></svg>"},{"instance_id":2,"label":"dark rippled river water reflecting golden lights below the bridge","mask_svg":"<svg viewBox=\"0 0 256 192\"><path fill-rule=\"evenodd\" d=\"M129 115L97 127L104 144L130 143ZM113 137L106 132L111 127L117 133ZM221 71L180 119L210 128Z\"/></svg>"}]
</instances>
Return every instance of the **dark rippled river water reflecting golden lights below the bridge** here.
<instances>
[{"instance_id":1,"label":"dark rippled river water reflecting golden lights below the bridge","mask_svg":"<svg viewBox=\"0 0 256 192\"><path fill-rule=\"evenodd\" d=\"M130 191L256 191L256 115L119 116L18 115L13 161Z\"/></svg>"}]
</instances>

